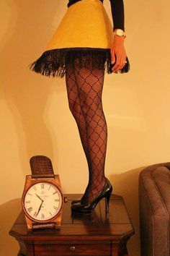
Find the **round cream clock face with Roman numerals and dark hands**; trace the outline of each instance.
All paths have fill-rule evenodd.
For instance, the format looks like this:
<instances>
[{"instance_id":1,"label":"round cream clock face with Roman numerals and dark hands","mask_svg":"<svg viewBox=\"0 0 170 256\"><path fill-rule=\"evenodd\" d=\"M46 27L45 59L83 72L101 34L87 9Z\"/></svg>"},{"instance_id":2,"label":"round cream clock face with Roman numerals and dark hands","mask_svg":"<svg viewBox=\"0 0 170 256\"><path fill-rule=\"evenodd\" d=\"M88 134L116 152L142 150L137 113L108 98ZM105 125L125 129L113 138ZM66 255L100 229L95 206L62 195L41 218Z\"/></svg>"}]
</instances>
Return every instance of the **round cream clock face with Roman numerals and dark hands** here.
<instances>
[{"instance_id":1,"label":"round cream clock face with Roman numerals and dark hands","mask_svg":"<svg viewBox=\"0 0 170 256\"><path fill-rule=\"evenodd\" d=\"M30 187L24 196L24 210L35 221L49 221L61 210L60 190L50 182L39 182Z\"/></svg>"}]
</instances>

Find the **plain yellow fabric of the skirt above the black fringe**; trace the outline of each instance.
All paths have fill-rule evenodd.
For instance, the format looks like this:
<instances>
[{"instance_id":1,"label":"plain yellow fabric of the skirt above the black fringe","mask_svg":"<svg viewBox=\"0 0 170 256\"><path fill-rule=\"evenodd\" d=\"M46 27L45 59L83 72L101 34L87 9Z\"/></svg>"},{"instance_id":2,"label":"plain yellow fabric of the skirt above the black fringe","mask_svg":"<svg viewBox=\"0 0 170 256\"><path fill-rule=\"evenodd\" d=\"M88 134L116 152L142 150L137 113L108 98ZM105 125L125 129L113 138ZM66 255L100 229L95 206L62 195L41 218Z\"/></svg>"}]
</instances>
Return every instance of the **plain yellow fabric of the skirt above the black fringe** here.
<instances>
[{"instance_id":1,"label":"plain yellow fabric of the skirt above the black fringe","mask_svg":"<svg viewBox=\"0 0 170 256\"><path fill-rule=\"evenodd\" d=\"M102 1L81 0L68 7L46 51L55 48L111 48L113 25Z\"/></svg>"}]
</instances>

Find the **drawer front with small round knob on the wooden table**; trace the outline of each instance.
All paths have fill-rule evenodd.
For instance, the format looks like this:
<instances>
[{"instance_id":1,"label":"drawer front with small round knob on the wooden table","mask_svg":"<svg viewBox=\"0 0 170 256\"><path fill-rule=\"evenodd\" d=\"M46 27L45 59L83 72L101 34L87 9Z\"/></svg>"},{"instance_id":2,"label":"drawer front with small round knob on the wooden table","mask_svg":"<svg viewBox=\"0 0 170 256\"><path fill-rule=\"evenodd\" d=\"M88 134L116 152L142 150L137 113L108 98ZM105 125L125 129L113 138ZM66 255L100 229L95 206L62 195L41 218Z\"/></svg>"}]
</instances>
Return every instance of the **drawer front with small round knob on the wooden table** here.
<instances>
[{"instance_id":1,"label":"drawer front with small round knob on the wooden table","mask_svg":"<svg viewBox=\"0 0 170 256\"><path fill-rule=\"evenodd\" d=\"M111 255L111 242L36 243L35 256Z\"/></svg>"}]
</instances>

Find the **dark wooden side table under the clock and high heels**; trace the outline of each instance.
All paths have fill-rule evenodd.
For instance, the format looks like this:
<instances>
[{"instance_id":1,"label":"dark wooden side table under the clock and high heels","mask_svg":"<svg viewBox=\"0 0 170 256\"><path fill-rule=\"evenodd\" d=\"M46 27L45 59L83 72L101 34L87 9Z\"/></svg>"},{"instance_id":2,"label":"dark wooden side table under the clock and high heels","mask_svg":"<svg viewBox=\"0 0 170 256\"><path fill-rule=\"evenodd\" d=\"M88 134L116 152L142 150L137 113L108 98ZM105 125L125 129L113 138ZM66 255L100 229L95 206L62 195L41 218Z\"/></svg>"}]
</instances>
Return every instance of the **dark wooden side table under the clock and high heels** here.
<instances>
[{"instance_id":1,"label":"dark wooden side table under the clock and high heels","mask_svg":"<svg viewBox=\"0 0 170 256\"><path fill-rule=\"evenodd\" d=\"M9 231L19 242L18 256L128 256L126 244L135 232L122 197L111 196L108 218L104 199L91 215L71 215L71 200L81 196L65 195L60 230L28 231L21 212Z\"/></svg>"}]
</instances>

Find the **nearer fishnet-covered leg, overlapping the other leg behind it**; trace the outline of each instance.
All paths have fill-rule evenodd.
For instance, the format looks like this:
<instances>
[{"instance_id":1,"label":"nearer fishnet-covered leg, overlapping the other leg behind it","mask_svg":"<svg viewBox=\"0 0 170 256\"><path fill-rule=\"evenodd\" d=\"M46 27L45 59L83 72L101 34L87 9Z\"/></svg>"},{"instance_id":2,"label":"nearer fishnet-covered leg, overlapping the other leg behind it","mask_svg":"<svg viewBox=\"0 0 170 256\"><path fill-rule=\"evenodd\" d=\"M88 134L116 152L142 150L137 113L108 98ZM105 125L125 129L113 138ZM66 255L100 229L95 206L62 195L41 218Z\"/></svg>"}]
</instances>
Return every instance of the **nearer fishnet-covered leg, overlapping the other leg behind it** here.
<instances>
[{"instance_id":1,"label":"nearer fishnet-covered leg, overlapping the other leg behind it","mask_svg":"<svg viewBox=\"0 0 170 256\"><path fill-rule=\"evenodd\" d=\"M99 57L95 57L98 63ZM89 153L89 186L85 202L91 202L106 182L104 164L107 150L107 123L102 108L103 69L87 69L75 65L76 85L81 111L86 123L86 139Z\"/></svg>"}]
</instances>

